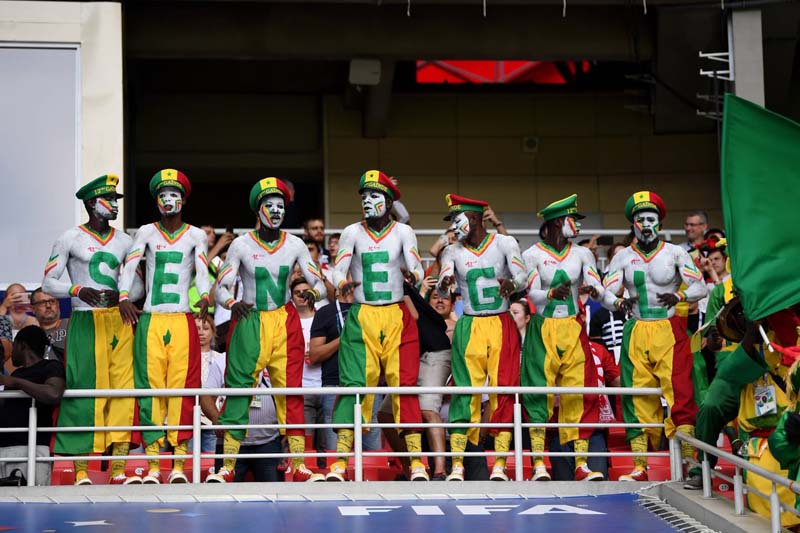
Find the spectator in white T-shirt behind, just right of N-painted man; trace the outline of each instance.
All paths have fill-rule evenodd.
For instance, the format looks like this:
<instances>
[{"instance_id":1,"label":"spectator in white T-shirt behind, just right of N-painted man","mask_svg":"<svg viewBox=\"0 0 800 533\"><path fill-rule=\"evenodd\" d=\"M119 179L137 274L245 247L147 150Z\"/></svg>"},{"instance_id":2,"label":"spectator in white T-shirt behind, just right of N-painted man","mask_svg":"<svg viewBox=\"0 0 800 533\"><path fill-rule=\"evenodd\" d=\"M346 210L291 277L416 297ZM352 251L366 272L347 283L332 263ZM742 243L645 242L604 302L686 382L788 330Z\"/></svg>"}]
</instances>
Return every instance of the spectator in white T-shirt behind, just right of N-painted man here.
<instances>
[{"instance_id":1,"label":"spectator in white T-shirt behind, just right of N-painted man","mask_svg":"<svg viewBox=\"0 0 800 533\"><path fill-rule=\"evenodd\" d=\"M317 243L312 243L314 246ZM297 278L292 281L289 286L292 294L292 303L297 308L297 314L300 315L300 327L303 328L303 340L305 341L305 352L303 357L303 387L304 388L319 388L322 386L322 365L319 363L312 363L309 358L309 348L311 339L311 325L314 322L315 308L313 305L308 305L303 295L311 290L305 278ZM304 394L303 395L303 408L305 412L306 424L322 424L324 422L324 413L322 409L322 396L319 394ZM322 430L306 429L306 435L314 436L314 448L319 450L325 446L325 435ZM322 465L325 466L325 458L320 457Z\"/></svg>"}]
</instances>

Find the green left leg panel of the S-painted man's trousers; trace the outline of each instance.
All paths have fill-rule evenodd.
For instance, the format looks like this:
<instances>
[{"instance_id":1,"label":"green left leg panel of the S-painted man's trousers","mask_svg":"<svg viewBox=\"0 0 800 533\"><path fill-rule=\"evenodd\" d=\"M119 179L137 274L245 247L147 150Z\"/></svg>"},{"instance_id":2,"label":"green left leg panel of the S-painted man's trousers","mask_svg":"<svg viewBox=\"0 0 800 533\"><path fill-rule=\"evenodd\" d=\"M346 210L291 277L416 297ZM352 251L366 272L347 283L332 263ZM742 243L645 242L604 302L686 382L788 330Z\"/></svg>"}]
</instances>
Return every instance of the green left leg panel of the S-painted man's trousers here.
<instances>
[{"instance_id":1,"label":"green left leg panel of the S-painted man's trousers","mask_svg":"<svg viewBox=\"0 0 800 533\"><path fill-rule=\"evenodd\" d=\"M67 389L94 389L97 371L95 367L94 315L91 311L75 311L67 330ZM95 425L94 398L63 398L58 409L58 426ZM56 434L55 453L92 453L94 433Z\"/></svg>"}]
</instances>

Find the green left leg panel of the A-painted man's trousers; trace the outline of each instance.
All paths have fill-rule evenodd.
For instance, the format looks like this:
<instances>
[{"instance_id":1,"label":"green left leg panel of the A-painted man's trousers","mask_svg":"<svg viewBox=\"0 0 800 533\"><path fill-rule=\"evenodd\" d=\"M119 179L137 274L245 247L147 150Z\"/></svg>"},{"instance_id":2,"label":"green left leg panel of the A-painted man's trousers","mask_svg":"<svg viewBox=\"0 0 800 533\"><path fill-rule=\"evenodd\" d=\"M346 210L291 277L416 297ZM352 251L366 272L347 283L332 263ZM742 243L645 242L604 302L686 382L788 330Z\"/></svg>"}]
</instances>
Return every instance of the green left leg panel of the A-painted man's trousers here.
<instances>
[{"instance_id":1,"label":"green left leg panel of the A-painted man's trousers","mask_svg":"<svg viewBox=\"0 0 800 533\"><path fill-rule=\"evenodd\" d=\"M533 315L525 330L525 344L522 347L522 371L520 384L523 387L546 387L547 375L544 363L547 350L542 339L542 324L545 317ZM528 414L529 422L545 423L550 416L546 394L523 394L522 405Z\"/></svg>"}]
</instances>

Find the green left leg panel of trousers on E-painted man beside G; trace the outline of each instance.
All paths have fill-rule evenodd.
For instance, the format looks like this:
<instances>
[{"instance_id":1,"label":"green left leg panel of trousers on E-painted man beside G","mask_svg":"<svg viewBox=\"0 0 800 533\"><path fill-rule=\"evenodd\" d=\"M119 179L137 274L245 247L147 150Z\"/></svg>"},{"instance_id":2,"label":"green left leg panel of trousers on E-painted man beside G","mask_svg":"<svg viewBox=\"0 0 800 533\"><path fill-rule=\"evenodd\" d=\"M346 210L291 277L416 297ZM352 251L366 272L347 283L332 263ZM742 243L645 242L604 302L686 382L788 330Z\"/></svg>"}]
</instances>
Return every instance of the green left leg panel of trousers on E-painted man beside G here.
<instances>
[{"instance_id":1,"label":"green left leg panel of trousers on E-painted man beside G","mask_svg":"<svg viewBox=\"0 0 800 533\"><path fill-rule=\"evenodd\" d=\"M361 304L350 306L342 328L339 344L339 385L342 387L364 387L367 383L367 348L358 319L360 311ZM333 423L352 424L355 403L355 396L337 397L333 408Z\"/></svg>"}]
</instances>

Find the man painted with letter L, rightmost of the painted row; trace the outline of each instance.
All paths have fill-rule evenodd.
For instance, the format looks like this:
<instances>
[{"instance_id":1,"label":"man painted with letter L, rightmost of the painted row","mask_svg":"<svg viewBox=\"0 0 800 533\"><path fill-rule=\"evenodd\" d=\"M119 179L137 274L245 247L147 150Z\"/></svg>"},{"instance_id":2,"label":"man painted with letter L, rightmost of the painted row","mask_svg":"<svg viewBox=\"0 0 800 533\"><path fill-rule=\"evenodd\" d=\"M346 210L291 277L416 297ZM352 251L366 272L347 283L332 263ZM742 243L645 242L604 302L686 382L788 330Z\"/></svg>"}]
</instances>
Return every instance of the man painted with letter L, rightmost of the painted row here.
<instances>
[{"instance_id":1,"label":"man painted with letter L, rightmost of the painted row","mask_svg":"<svg viewBox=\"0 0 800 533\"><path fill-rule=\"evenodd\" d=\"M636 232L637 243L614 256L604 281L603 305L633 315L625 327L630 332L621 350L622 384L650 383L660 386L669 405L664 421L667 438L675 431L694 434L697 405L692 386L692 352L686 327L676 316L675 304L694 302L706 295L703 276L684 248L661 241L658 229L666 215L664 201L652 191L634 193L625 203L625 217ZM658 273L657 276L655 273ZM681 283L687 288L679 290ZM619 298L622 287L629 297ZM631 329L628 329L631 328ZM625 422L660 423L661 401L655 397L622 399ZM648 444L661 441L653 428L626 430L631 451L646 453ZM691 459L694 450L681 442L681 457ZM620 481L647 481L647 457L634 456L634 469Z\"/></svg>"}]
</instances>

